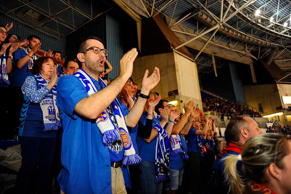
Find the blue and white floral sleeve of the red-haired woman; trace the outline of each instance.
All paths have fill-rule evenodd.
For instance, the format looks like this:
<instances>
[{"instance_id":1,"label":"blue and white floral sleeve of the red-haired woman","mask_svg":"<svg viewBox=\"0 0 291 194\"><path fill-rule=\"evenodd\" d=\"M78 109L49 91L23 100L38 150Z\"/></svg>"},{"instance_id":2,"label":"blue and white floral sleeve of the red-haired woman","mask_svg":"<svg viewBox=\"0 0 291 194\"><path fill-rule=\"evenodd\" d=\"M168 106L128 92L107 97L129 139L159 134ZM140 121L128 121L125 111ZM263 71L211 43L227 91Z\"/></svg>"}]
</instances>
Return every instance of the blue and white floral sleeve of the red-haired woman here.
<instances>
[{"instance_id":1,"label":"blue and white floral sleeve of the red-haired woman","mask_svg":"<svg viewBox=\"0 0 291 194\"><path fill-rule=\"evenodd\" d=\"M27 98L33 103L39 103L45 98L47 93L51 92L46 86L38 90L36 80L28 76L22 85L22 91L26 94Z\"/></svg>"}]
</instances>

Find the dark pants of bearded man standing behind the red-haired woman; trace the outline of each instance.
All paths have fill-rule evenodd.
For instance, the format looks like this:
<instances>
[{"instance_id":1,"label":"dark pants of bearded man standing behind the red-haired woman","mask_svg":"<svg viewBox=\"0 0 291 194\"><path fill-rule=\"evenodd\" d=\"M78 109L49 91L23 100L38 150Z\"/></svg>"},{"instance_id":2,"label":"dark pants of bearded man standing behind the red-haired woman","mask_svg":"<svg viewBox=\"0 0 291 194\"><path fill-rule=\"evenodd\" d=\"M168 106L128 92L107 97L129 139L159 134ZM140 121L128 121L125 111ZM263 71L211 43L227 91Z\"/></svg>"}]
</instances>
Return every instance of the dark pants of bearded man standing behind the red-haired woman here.
<instances>
[{"instance_id":1,"label":"dark pants of bearded man standing behind the red-haired woman","mask_svg":"<svg viewBox=\"0 0 291 194\"><path fill-rule=\"evenodd\" d=\"M23 106L24 96L22 94L21 87L12 88L13 99L13 126L19 127L20 112Z\"/></svg>"}]
</instances>

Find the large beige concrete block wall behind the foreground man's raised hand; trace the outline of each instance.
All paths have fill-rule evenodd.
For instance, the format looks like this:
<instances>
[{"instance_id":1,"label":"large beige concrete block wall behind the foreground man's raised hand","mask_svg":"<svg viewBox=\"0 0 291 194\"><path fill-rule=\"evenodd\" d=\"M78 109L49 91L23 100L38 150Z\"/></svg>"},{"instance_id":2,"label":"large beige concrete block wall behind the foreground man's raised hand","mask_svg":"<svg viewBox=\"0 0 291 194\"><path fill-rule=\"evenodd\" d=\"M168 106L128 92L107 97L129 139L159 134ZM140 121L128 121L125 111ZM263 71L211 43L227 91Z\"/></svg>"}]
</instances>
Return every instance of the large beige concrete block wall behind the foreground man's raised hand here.
<instances>
[{"instance_id":1,"label":"large beige concrete block wall behind the foreground man's raised hand","mask_svg":"<svg viewBox=\"0 0 291 194\"><path fill-rule=\"evenodd\" d=\"M160 69L161 81L152 92L158 92L162 99L169 102L177 100L174 105L181 112L183 112L183 104L189 100L193 100L195 106L198 104L202 110L198 72L194 62L176 53L137 57L134 61L132 78L139 89L145 70L148 69L150 75L155 67ZM178 95L168 96L168 92L173 90L178 90Z\"/></svg>"}]
</instances>

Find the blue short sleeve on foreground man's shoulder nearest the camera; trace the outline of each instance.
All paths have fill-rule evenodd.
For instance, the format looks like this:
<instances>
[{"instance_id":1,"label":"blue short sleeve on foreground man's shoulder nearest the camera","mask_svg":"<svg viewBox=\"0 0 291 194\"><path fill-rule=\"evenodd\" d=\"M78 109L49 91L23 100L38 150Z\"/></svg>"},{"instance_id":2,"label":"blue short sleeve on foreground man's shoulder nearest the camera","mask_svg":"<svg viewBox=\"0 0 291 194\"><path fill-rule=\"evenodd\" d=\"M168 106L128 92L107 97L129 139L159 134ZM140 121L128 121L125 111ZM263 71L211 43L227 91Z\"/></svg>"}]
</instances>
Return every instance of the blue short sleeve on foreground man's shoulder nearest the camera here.
<instances>
[{"instance_id":1,"label":"blue short sleeve on foreground man's shoulder nearest the camera","mask_svg":"<svg viewBox=\"0 0 291 194\"><path fill-rule=\"evenodd\" d=\"M56 105L67 115L78 119L75 107L86 97L88 94L85 86L76 76L61 76L58 79Z\"/></svg>"}]
</instances>

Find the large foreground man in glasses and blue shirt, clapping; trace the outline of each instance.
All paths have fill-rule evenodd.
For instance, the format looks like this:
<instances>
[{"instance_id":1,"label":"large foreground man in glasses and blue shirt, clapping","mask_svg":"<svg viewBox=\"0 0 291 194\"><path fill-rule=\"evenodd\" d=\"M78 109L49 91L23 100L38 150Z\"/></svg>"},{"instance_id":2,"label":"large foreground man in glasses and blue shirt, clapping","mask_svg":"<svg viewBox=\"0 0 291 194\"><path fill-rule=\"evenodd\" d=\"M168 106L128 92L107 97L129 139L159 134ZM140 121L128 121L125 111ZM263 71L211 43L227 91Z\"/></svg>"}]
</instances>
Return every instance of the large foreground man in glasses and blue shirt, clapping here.
<instances>
[{"instance_id":1,"label":"large foreground man in glasses and blue shirt, clapping","mask_svg":"<svg viewBox=\"0 0 291 194\"><path fill-rule=\"evenodd\" d=\"M61 193L126 193L128 168L140 162L127 126L134 127L143 113L149 92L160 80L159 69L142 81L141 96L127 116L117 95L132 74L136 48L120 60L120 74L108 86L99 78L108 55L101 40L90 36L77 46L81 66L73 76L58 80L56 104L63 118ZM125 124L126 123L126 124ZM122 168L121 168L122 166Z\"/></svg>"}]
</instances>

